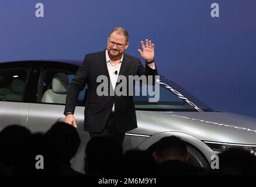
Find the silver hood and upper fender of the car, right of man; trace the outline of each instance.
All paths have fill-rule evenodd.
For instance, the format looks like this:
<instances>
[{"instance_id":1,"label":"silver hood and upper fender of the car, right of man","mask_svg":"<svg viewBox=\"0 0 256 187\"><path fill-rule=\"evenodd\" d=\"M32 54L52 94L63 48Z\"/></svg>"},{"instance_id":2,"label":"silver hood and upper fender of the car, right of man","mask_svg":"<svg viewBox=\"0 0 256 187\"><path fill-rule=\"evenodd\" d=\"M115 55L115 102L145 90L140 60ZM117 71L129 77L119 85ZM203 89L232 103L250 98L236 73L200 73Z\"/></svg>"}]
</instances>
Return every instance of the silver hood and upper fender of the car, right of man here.
<instances>
[{"instance_id":1,"label":"silver hood and upper fender of the car, right of man","mask_svg":"<svg viewBox=\"0 0 256 187\"><path fill-rule=\"evenodd\" d=\"M153 135L178 131L200 140L256 144L256 118L229 112L137 111L138 127L130 133Z\"/></svg>"}]
</instances>

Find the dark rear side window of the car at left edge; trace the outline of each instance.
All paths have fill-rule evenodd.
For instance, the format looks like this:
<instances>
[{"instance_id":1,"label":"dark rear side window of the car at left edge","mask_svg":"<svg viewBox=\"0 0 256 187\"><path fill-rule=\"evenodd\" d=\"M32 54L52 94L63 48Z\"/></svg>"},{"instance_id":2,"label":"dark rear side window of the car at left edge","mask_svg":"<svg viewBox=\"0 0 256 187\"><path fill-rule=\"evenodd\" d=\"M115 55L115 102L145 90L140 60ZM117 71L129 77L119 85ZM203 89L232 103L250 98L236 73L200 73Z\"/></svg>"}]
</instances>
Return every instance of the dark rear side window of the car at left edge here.
<instances>
[{"instance_id":1,"label":"dark rear side window of the car at left edge","mask_svg":"<svg viewBox=\"0 0 256 187\"><path fill-rule=\"evenodd\" d=\"M26 76L24 69L0 71L0 101L23 101Z\"/></svg>"}]
</instances>

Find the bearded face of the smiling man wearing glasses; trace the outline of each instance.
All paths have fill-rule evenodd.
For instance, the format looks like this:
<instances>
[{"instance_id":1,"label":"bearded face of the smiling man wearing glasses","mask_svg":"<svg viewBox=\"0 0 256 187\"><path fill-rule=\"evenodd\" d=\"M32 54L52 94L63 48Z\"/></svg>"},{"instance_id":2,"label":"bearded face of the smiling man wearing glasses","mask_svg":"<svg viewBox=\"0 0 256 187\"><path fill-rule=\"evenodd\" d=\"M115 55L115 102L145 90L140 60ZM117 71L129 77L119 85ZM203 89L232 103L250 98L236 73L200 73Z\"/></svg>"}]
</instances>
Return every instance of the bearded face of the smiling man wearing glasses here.
<instances>
[{"instance_id":1,"label":"bearded face of the smiling man wearing glasses","mask_svg":"<svg viewBox=\"0 0 256 187\"><path fill-rule=\"evenodd\" d=\"M113 32L110 37L108 37L107 49L109 56L112 58L121 57L128 46L129 42L126 43L126 37L123 35Z\"/></svg>"}]
</instances>

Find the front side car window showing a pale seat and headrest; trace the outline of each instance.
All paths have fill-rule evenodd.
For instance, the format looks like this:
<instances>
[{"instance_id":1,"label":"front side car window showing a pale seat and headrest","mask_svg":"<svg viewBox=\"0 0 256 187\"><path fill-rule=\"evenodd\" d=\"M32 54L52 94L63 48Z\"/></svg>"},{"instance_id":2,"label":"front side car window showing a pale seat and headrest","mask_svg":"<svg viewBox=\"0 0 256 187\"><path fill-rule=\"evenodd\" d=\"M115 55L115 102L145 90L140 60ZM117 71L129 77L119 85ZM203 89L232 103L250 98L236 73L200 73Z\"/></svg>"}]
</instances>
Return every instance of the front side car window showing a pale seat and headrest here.
<instances>
[{"instance_id":1,"label":"front side car window showing a pale seat and headrest","mask_svg":"<svg viewBox=\"0 0 256 187\"><path fill-rule=\"evenodd\" d=\"M74 78L74 73L60 70L47 70L43 73L43 82L41 84L41 99L42 103L57 103L65 104L67 92L70 83ZM85 91L79 93L77 105L84 106Z\"/></svg>"}]
</instances>

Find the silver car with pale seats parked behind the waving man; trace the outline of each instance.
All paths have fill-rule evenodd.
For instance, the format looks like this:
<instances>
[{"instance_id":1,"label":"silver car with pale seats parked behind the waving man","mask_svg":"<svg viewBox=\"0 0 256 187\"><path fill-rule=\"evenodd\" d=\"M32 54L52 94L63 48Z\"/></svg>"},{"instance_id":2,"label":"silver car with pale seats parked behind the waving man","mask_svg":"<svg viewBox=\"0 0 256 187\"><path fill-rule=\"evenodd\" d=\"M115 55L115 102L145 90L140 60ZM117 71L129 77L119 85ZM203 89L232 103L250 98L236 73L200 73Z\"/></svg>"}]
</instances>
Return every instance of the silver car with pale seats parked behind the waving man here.
<instances>
[{"instance_id":1,"label":"silver car with pale seats parked behind the waving man","mask_svg":"<svg viewBox=\"0 0 256 187\"><path fill-rule=\"evenodd\" d=\"M64 120L65 97L81 61L18 61L0 63L0 130L21 124L32 132L45 132ZM210 109L184 88L160 77L160 100L134 96L138 128L128 131L123 148L154 152L165 136L178 136L188 145L189 163L209 168L213 155L230 147L256 154L256 118ZM60 85L61 89L60 89ZM140 86L134 87L134 93ZM65 88L63 90L63 88ZM79 95L75 117L81 146L72 168L84 172L84 150L89 133L82 130L87 86Z\"/></svg>"}]
</instances>

